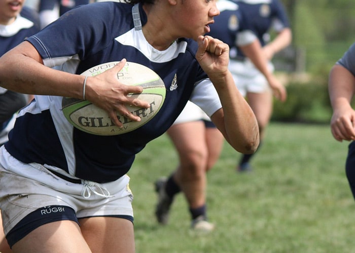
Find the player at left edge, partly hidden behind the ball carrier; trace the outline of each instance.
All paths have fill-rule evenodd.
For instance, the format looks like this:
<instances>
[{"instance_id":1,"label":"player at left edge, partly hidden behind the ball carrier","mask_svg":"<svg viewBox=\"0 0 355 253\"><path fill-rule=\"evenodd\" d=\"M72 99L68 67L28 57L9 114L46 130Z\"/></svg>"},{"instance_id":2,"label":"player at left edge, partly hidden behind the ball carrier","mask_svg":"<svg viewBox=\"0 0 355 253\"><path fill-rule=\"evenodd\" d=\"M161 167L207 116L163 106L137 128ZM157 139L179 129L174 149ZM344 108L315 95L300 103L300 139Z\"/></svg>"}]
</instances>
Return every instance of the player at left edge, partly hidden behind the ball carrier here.
<instances>
[{"instance_id":1,"label":"player at left edge, partly hidden behind the ball carrier","mask_svg":"<svg viewBox=\"0 0 355 253\"><path fill-rule=\"evenodd\" d=\"M0 57L40 29L37 13L24 7L24 2L23 0L0 0ZM16 112L31 99L32 96L0 87L0 146L8 141L8 134L15 123ZM5 253L9 250L3 226L0 226L0 252Z\"/></svg>"}]
</instances>

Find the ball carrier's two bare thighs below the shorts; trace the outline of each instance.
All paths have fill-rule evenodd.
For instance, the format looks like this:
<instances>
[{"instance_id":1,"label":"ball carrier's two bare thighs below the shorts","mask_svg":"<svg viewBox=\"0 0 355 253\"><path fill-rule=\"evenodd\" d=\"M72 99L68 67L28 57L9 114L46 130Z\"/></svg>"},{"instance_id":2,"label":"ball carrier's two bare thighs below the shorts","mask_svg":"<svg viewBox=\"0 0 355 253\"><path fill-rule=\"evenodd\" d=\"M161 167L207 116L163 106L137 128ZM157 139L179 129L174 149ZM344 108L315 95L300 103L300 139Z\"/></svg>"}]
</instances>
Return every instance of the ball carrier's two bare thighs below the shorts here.
<instances>
[{"instance_id":1,"label":"ball carrier's two bare thighs below the shorts","mask_svg":"<svg viewBox=\"0 0 355 253\"><path fill-rule=\"evenodd\" d=\"M133 224L126 219L95 217L45 224L15 243L14 252L134 252Z\"/></svg>"}]
</instances>

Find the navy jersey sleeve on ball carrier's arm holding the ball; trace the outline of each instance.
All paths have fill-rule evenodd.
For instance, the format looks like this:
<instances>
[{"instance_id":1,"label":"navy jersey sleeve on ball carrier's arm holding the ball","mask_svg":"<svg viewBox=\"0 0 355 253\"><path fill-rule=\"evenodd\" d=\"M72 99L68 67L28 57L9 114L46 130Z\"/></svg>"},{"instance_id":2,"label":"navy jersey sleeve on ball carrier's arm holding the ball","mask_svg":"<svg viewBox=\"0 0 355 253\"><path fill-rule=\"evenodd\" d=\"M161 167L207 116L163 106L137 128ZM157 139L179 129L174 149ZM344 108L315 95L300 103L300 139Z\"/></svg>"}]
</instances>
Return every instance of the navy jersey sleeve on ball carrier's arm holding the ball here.
<instances>
[{"instance_id":1,"label":"navy jersey sleeve on ball carrier's arm holding the ball","mask_svg":"<svg viewBox=\"0 0 355 253\"><path fill-rule=\"evenodd\" d=\"M80 60L85 59L111 41L107 34L112 34L115 12L110 12L110 9L102 4L75 8L27 40L37 49L44 61L52 59L46 63L49 67L60 65L72 56L78 56Z\"/></svg>"}]
</instances>

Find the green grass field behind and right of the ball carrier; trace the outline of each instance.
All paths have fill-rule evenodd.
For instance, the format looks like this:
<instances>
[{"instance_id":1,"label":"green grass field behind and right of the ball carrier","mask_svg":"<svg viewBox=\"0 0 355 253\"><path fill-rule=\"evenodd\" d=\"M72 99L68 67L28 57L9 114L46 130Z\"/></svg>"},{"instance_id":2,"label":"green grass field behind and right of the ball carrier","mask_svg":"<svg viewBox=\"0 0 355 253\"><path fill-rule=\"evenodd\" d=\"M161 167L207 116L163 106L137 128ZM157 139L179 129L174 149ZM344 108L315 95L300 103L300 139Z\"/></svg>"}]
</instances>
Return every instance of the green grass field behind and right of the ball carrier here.
<instances>
[{"instance_id":1,"label":"green grass field behind and right of the ball carrier","mask_svg":"<svg viewBox=\"0 0 355 253\"><path fill-rule=\"evenodd\" d=\"M153 182L177 164L170 140L158 138L129 173L137 252L354 252L347 145L332 138L329 125L273 122L252 161L253 173L238 174L240 154L225 143L208 173L208 216L216 230L196 236L181 194L169 224L156 222Z\"/></svg>"}]
</instances>

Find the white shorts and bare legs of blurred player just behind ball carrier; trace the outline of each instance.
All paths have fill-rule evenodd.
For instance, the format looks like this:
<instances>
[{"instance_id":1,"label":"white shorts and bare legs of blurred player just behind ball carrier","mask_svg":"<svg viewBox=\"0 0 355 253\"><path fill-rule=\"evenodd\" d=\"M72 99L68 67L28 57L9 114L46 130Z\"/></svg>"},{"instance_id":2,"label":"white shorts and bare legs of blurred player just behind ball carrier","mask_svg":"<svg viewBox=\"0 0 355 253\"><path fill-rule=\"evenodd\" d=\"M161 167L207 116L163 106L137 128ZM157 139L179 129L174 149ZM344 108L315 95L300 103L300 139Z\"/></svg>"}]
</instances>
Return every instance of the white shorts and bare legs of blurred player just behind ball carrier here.
<instances>
[{"instance_id":1,"label":"white shorts and bare legs of blurred player just behind ball carrier","mask_svg":"<svg viewBox=\"0 0 355 253\"><path fill-rule=\"evenodd\" d=\"M157 220L161 224L168 222L174 196L183 191L189 204L192 229L209 232L214 229L214 224L207 221L206 215L206 172L218 160L223 135L192 102L187 103L167 134L179 155L179 165L168 179L161 178L155 183Z\"/></svg>"}]
</instances>

